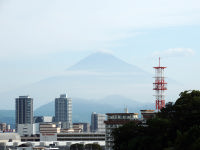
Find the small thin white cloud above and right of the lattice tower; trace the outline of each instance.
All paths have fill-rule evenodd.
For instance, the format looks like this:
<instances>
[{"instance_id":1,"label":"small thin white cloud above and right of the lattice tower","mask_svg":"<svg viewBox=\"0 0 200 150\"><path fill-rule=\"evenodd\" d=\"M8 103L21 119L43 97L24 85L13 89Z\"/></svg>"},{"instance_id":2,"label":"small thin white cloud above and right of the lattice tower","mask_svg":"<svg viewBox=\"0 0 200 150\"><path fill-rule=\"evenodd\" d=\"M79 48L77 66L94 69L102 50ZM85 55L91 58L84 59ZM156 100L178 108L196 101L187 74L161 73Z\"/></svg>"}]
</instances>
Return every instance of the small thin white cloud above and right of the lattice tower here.
<instances>
[{"instance_id":1,"label":"small thin white cloud above and right of the lattice tower","mask_svg":"<svg viewBox=\"0 0 200 150\"><path fill-rule=\"evenodd\" d=\"M191 48L170 48L164 51L157 51L153 53L153 57L183 57L192 56L195 51Z\"/></svg>"}]
</instances>

